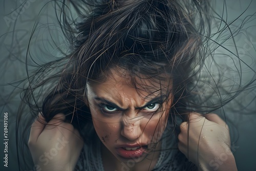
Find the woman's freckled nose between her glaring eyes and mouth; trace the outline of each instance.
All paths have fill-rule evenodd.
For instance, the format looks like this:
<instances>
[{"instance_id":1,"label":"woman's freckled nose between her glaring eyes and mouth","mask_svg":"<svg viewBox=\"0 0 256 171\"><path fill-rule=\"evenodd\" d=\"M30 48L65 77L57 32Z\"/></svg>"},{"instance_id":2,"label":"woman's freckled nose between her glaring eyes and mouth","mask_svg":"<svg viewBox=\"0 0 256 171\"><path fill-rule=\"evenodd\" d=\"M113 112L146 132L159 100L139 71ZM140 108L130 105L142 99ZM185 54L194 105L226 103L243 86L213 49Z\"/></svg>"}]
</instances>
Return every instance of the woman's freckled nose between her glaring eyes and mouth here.
<instances>
[{"instance_id":1,"label":"woman's freckled nose between her glaring eyes and mouth","mask_svg":"<svg viewBox=\"0 0 256 171\"><path fill-rule=\"evenodd\" d=\"M131 118L126 115L122 116L121 135L130 141L135 141L142 135L140 128L140 119L138 117Z\"/></svg>"}]
</instances>

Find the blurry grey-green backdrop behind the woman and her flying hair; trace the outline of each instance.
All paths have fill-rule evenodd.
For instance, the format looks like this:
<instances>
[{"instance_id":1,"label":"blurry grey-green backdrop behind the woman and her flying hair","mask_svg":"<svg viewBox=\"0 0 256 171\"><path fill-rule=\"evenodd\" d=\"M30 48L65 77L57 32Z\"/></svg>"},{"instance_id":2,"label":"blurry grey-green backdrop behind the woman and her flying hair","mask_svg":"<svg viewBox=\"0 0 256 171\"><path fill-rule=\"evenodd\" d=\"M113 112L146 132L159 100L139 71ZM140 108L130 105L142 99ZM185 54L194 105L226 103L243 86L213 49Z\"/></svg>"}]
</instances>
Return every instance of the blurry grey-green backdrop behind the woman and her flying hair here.
<instances>
[{"instance_id":1,"label":"blurry grey-green backdrop behind the woman and her flying hair","mask_svg":"<svg viewBox=\"0 0 256 171\"><path fill-rule=\"evenodd\" d=\"M37 14L41 9L40 15L40 30L36 31L37 40L47 40L50 38L49 30L51 31L51 36L54 36L57 41L62 41L62 36L58 33L58 28L54 25L47 25L47 23L56 23L54 20L51 20L49 16L54 16L52 9L52 4L49 3L47 8L43 8L44 5L48 1L39 1L39 0L28 0L27 4L25 4L22 9L18 9L19 14L13 12L17 11L17 8L20 4L23 4L24 0L20 1L4 1L1 0L0 6L0 84L8 83L17 80L18 78L24 78L26 76L26 68L24 58L20 58L20 56L25 56L26 46L28 45L28 40L34 26L34 21L37 20ZM250 4L251 3L251 4ZM250 4L250 5L249 5ZM223 0L216 1L216 10L219 14L222 14L223 10ZM227 0L226 1L228 13L224 14L223 17L227 18L228 22L231 23L233 19L236 19L243 11L248 7L246 12L241 16L240 19L237 19L236 22L233 23L232 29L236 29L236 26L240 26L246 21L248 24L244 26L244 30L241 31L240 35L237 35L236 44L239 47L239 54L241 54L245 62L249 63L250 67L256 70L255 67L255 59L256 59L256 1L255 0ZM46 17L46 14L48 17ZM250 17L251 15L254 15ZM47 20L48 19L48 20ZM15 26L15 35L12 34L13 28ZM227 33L228 34L228 33ZM221 41L221 39L220 39ZM12 42L15 42L12 44ZM46 41L45 41L46 42ZM39 45L38 41L32 40L31 44ZM228 45L229 42L226 42ZM232 41L230 40L230 50L236 52L236 49L232 49ZM62 46L62 45L61 45ZM65 49L65 45L63 45ZM36 46L35 46L36 47ZM49 61L49 57L44 57L44 49L48 49L51 54L58 56L59 53L50 45L41 44L39 47L42 49L35 48L31 49L31 53L34 56L37 56L37 62L45 62ZM221 54L222 49L218 49L216 53ZM225 53L223 51L223 53ZM12 55L9 55L12 54ZM226 64L228 62L237 62L237 61L225 61ZM251 79L253 76L253 72L250 70L246 70L246 67L242 65L243 68L243 77L242 81L246 82L248 79ZM17 111L17 106L19 103L19 95L10 96L14 87L5 86L0 87L0 170L17 170L17 158L16 158L16 144L15 144L15 114ZM246 95L242 95L238 98L242 98L243 102L248 105L247 109L255 109L256 100L254 99L256 96L255 90L250 90ZM8 103L8 105L5 105ZM230 104L231 108L235 108ZM232 142L232 152L236 157L237 166L239 170L256 170L256 114L250 113L246 115L243 114L243 111L238 113L232 113L228 110L230 109L230 105L226 109L226 115L231 120L236 129L234 132L239 133L239 138L236 141L234 138ZM4 113L8 113L8 167L4 167ZM232 138L234 137L231 135ZM216 160L217 162L217 160ZM222 161L219 160L218 164L222 164Z\"/></svg>"}]
</instances>

